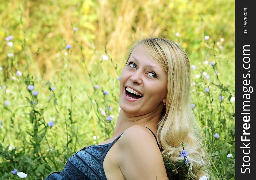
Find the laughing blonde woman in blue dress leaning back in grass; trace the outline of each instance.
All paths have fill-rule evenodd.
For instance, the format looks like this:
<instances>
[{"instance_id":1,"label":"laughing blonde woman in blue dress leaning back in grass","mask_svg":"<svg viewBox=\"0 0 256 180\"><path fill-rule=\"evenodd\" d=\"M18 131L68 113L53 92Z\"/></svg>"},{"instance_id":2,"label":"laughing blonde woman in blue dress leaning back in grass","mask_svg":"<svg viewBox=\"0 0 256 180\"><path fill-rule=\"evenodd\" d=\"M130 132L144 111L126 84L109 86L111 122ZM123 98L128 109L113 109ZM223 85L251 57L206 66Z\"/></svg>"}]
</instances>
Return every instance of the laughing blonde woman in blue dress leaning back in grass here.
<instances>
[{"instance_id":1,"label":"laughing blonde woman in blue dress leaning back in grass","mask_svg":"<svg viewBox=\"0 0 256 180\"><path fill-rule=\"evenodd\" d=\"M162 155L181 158L186 144L189 176L207 176L209 166L189 104L190 64L186 53L164 38L135 42L120 76L120 113L113 137L84 147L63 171L46 180L167 180ZM184 159L184 158L183 158Z\"/></svg>"}]
</instances>

